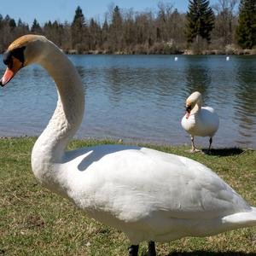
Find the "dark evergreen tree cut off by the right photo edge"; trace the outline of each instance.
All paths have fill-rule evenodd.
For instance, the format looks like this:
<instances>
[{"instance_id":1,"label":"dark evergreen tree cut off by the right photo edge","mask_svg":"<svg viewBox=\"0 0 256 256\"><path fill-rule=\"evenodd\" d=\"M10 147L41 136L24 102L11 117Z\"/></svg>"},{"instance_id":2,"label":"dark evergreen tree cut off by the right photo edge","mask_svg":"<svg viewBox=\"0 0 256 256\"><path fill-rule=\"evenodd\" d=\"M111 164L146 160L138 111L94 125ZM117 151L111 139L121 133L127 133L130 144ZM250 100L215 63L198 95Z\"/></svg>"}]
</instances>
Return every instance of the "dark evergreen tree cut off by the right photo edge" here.
<instances>
[{"instance_id":1,"label":"dark evergreen tree cut off by the right photo edge","mask_svg":"<svg viewBox=\"0 0 256 256\"><path fill-rule=\"evenodd\" d=\"M256 45L256 0L241 0L236 39L243 49Z\"/></svg>"}]
</instances>

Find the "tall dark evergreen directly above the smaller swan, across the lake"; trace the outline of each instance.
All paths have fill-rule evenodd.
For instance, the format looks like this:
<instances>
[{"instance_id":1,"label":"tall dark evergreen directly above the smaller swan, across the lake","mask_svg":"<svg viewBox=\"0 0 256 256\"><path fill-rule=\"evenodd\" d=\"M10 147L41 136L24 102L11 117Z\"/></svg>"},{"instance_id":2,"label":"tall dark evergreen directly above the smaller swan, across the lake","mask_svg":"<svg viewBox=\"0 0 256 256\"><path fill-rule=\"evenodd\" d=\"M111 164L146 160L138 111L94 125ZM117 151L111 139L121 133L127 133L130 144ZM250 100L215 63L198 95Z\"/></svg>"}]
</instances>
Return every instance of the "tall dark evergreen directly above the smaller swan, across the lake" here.
<instances>
[{"instance_id":1,"label":"tall dark evergreen directly above the smaller swan, across the lake","mask_svg":"<svg viewBox=\"0 0 256 256\"><path fill-rule=\"evenodd\" d=\"M187 38L192 43L198 41L199 36L211 41L211 32L214 26L214 14L208 0L189 0L187 12Z\"/></svg>"}]
</instances>

